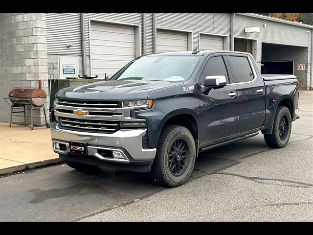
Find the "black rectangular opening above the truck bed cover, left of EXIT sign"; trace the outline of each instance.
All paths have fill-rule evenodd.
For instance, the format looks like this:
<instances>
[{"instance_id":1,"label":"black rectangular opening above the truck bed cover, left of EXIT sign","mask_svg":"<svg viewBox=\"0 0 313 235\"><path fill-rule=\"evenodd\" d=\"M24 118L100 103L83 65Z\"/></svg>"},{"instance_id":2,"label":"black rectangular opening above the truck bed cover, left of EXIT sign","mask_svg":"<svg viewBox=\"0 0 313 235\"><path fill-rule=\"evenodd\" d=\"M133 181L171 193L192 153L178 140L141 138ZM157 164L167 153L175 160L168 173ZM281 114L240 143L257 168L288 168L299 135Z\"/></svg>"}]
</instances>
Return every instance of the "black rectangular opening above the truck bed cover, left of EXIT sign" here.
<instances>
[{"instance_id":1,"label":"black rectangular opening above the truck bed cover, left of EXIT sign","mask_svg":"<svg viewBox=\"0 0 313 235\"><path fill-rule=\"evenodd\" d=\"M293 74L293 61L264 62L261 64L262 74Z\"/></svg>"}]
</instances>

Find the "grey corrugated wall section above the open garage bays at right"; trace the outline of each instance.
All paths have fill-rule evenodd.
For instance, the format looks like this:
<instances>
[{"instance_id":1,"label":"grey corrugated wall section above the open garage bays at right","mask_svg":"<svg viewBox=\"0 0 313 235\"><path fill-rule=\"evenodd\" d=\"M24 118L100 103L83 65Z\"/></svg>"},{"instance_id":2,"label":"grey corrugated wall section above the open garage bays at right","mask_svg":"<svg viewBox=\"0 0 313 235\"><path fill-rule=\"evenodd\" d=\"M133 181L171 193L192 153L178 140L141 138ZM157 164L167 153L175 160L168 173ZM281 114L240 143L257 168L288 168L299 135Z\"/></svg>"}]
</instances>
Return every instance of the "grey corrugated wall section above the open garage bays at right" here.
<instances>
[{"instance_id":1,"label":"grey corrugated wall section above the open garage bays at right","mask_svg":"<svg viewBox=\"0 0 313 235\"><path fill-rule=\"evenodd\" d=\"M266 24L266 27L263 25ZM260 27L258 33L245 33L247 27ZM308 34L305 27L258 19L236 14L234 36L257 39L257 62L261 62L262 42L291 46L308 47Z\"/></svg>"}]
</instances>

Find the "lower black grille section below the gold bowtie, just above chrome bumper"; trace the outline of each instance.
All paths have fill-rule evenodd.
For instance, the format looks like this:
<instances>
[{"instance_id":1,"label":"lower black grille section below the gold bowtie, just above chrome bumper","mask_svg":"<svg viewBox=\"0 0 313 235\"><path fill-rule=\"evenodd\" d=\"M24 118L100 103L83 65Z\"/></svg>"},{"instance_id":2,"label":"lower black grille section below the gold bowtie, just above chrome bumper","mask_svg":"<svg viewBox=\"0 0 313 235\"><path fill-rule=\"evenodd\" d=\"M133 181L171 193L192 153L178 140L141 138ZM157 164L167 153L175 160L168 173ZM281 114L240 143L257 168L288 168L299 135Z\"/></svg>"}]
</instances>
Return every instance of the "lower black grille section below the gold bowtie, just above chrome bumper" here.
<instances>
[{"instance_id":1,"label":"lower black grille section below the gold bowtie, just above chrome bumper","mask_svg":"<svg viewBox=\"0 0 313 235\"><path fill-rule=\"evenodd\" d=\"M113 133L119 129L119 121L84 120L60 117L60 123L63 129L74 131Z\"/></svg>"}]
</instances>

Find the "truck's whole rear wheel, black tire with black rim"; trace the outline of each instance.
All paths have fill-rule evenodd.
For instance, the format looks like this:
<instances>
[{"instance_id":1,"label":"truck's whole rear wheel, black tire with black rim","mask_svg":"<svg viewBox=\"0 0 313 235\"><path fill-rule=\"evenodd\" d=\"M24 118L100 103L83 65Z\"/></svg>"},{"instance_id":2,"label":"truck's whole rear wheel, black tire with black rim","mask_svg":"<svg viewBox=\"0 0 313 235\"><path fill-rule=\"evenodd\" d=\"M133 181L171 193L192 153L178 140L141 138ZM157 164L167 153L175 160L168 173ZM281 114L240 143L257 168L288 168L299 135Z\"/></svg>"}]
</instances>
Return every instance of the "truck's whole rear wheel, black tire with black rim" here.
<instances>
[{"instance_id":1,"label":"truck's whole rear wheel, black tire with black rim","mask_svg":"<svg viewBox=\"0 0 313 235\"><path fill-rule=\"evenodd\" d=\"M272 134L264 134L264 140L269 147L283 148L288 143L290 135L291 114L289 109L284 106L278 106L274 118Z\"/></svg>"}]
</instances>

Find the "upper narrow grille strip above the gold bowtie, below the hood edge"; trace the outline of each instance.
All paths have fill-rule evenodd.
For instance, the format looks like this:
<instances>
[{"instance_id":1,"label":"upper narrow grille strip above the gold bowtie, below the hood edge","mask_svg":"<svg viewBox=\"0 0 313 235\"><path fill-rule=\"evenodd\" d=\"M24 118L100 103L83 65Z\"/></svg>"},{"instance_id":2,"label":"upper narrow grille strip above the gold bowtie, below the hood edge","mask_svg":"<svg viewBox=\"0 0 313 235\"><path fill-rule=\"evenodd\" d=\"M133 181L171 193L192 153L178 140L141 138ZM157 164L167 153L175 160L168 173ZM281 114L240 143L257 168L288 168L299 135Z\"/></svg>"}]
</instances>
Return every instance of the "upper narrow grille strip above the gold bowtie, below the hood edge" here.
<instances>
[{"instance_id":1,"label":"upper narrow grille strip above the gold bowtie, below the hood edge","mask_svg":"<svg viewBox=\"0 0 313 235\"><path fill-rule=\"evenodd\" d=\"M58 104L79 108L120 108L119 101L79 101L58 99Z\"/></svg>"}]
</instances>

